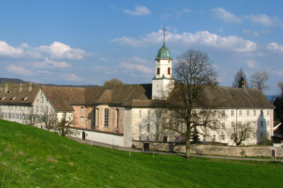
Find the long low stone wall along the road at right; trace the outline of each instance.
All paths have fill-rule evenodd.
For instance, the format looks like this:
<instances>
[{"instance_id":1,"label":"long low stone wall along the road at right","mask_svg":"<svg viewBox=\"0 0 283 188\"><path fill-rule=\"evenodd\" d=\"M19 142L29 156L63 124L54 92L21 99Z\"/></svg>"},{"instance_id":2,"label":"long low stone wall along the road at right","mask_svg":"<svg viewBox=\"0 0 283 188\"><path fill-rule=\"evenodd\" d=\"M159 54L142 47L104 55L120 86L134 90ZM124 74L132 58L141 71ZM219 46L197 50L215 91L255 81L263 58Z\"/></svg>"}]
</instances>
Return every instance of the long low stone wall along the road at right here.
<instances>
[{"instance_id":1,"label":"long low stone wall along the road at right","mask_svg":"<svg viewBox=\"0 0 283 188\"><path fill-rule=\"evenodd\" d=\"M155 142L155 141L132 141L137 148L143 148L144 143L149 144L150 150L174 151L185 153L185 145L175 142ZM271 157L272 150L275 150L275 157L283 157L282 145L277 146L219 146L191 144L191 153L205 155L224 155L240 157L241 151L246 152L248 157Z\"/></svg>"}]
</instances>

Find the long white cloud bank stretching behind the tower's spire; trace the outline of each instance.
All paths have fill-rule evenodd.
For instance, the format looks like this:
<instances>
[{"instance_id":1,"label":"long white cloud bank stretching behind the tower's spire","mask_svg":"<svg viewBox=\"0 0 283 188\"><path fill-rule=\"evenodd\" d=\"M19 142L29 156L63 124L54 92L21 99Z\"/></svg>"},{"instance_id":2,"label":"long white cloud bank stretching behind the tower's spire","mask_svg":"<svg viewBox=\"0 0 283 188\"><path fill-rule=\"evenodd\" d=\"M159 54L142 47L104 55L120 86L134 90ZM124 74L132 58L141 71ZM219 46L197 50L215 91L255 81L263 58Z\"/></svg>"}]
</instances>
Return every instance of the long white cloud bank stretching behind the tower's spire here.
<instances>
[{"instance_id":1,"label":"long white cloud bank stretching behind the tower's spire","mask_svg":"<svg viewBox=\"0 0 283 188\"><path fill-rule=\"evenodd\" d=\"M135 38L116 38L111 42L117 42L120 45L131 46L131 47L145 47L148 45L157 45L163 42L163 31L152 32L146 34L145 37L140 40ZM170 44L175 44L181 47L192 47L192 46L202 46L202 47L214 47L225 51L235 51L235 52L249 52L256 49L256 44L249 40L244 40L237 36L221 37L219 35L209 33L208 31L200 31L195 34L192 33L182 33L182 34L172 34L170 32L166 33L166 42Z\"/></svg>"}]
</instances>

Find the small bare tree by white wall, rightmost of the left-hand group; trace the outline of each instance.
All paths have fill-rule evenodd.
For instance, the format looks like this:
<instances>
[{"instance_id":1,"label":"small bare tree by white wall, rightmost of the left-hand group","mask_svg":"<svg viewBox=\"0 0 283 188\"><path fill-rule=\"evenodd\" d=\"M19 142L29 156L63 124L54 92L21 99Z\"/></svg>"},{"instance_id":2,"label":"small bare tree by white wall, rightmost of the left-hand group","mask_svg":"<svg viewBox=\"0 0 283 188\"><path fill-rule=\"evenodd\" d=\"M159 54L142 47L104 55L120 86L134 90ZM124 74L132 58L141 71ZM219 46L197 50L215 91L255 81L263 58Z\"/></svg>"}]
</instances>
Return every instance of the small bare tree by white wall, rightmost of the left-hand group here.
<instances>
[{"instance_id":1,"label":"small bare tree by white wall, rightmost of the left-hand group","mask_svg":"<svg viewBox=\"0 0 283 188\"><path fill-rule=\"evenodd\" d=\"M72 112L63 112L61 118L57 118L57 124L54 128L62 136L76 135L78 131L72 129L75 125L75 120L72 115Z\"/></svg>"}]
</instances>

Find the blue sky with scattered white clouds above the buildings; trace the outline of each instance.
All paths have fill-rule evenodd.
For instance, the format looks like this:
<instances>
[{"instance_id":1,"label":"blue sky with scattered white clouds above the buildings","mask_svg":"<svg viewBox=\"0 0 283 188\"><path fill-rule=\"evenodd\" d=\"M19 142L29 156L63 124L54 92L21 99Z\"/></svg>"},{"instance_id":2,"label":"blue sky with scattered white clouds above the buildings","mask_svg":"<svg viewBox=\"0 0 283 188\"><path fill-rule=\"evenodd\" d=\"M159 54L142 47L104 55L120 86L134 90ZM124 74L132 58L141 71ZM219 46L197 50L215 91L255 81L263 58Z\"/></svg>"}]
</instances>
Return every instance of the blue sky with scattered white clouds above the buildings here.
<instances>
[{"instance_id":1,"label":"blue sky with scattered white clouds above the buildings","mask_svg":"<svg viewBox=\"0 0 283 188\"><path fill-rule=\"evenodd\" d=\"M157 51L173 59L207 52L221 86L235 71L267 71L270 90L283 81L280 0L2 0L0 77L36 83L151 83Z\"/></svg>"}]
</instances>

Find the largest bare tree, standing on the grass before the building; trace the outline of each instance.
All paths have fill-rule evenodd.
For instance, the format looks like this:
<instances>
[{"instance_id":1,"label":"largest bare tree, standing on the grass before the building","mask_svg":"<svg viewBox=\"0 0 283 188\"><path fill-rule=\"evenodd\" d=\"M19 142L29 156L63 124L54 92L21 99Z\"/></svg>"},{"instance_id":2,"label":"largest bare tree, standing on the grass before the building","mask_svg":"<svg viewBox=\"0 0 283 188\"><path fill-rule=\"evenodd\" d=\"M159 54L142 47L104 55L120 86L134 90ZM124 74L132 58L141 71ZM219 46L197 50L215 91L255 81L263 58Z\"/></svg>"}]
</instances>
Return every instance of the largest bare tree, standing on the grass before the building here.
<instances>
[{"instance_id":1,"label":"largest bare tree, standing on the grass before the building","mask_svg":"<svg viewBox=\"0 0 283 188\"><path fill-rule=\"evenodd\" d=\"M217 79L212 63L207 53L190 49L183 53L175 63L173 74L176 81L174 89L165 106L169 109L164 128L179 133L186 140L186 157L190 156L190 138L194 127L203 130L216 130L213 126L220 117L215 109L208 104L203 90L212 85ZM214 116L215 115L215 116ZM182 125L184 130L177 129L175 125Z\"/></svg>"}]
</instances>

